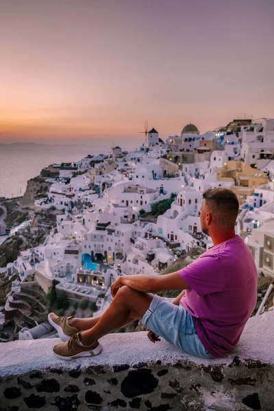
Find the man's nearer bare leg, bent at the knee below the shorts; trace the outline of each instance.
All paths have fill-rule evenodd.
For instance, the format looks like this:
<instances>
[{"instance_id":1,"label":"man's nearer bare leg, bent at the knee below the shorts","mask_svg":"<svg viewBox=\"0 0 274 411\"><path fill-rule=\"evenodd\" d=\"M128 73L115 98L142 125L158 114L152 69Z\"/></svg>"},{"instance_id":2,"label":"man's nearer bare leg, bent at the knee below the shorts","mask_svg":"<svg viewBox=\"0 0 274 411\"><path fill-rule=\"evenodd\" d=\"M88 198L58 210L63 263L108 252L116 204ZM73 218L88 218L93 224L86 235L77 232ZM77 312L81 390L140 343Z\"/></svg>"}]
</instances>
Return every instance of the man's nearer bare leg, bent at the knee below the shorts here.
<instances>
[{"instance_id":1,"label":"man's nearer bare leg, bent at the knee below the shorts","mask_svg":"<svg viewBox=\"0 0 274 411\"><path fill-rule=\"evenodd\" d=\"M132 313L136 319L141 319L152 299L153 294L139 292L127 286L121 287L97 323L81 333L81 343L90 345L115 329L123 327Z\"/></svg>"}]
</instances>

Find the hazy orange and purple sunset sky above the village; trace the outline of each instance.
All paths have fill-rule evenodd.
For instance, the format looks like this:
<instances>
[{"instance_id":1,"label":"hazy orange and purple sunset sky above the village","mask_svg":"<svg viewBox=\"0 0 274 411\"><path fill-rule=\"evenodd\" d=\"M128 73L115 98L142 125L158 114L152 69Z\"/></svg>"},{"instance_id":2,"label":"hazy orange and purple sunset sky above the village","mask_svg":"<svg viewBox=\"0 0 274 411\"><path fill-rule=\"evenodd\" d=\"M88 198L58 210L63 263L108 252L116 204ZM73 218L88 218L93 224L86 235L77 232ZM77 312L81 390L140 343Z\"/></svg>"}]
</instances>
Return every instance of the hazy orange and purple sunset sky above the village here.
<instances>
[{"instance_id":1,"label":"hazy orange and purple sunset sky above the village","mask_svg":"<svg viewBox=\"0 0 274 411\"><path fill-rule=\"evenodd\" d=\"M274 117L274 0L0 0L0 142Z\"/></svg>"}]
</instances>

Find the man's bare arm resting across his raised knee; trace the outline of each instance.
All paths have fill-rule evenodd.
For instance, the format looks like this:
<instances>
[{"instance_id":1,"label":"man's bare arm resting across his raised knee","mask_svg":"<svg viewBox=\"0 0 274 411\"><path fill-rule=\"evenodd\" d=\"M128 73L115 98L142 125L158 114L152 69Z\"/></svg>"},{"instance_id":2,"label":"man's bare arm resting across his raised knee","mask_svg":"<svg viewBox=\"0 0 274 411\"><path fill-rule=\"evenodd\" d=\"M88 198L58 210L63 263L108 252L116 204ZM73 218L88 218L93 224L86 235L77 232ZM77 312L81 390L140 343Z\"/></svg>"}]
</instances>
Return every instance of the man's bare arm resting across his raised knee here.
<instances>
[{"instance_id":1,"label":"man's bare arm resting across his raised knee","mask_svg":"<svg viewBox=\"0 0 274 411\"><path fill-rule=\"evenodd\" d=\"M114 297L119 288L123 286L129 286L141 292L188 290L190 288L184 279L179 276L177 271L166 275L122 275L118 277L111 286L112 297Z\"/></svg>"}]
</instances>

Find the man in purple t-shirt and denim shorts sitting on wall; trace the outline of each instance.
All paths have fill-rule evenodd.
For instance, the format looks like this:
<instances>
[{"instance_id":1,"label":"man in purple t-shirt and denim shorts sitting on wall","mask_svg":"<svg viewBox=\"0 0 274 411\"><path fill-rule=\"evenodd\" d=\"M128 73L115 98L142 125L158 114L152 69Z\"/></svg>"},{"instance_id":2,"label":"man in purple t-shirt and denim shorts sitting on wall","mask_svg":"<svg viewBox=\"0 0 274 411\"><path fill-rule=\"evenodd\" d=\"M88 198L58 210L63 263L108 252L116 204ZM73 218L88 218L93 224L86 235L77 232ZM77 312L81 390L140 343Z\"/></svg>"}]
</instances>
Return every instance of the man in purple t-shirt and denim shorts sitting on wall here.
<instances>
[{"instance_id":1,"label":"man in purple t-shirt and denim shorts sitting on wall","mask_svg":"<svg viewBox=\"0 0 274 411\"><path fill-rule=\"evenodd\" d=\"M239 203L226 188L203 193L201 229L214 247L195 262L168 275L123 275L111 286L114 297L103 315L90 319L49 314L64 341L53 347L59 358L96 356L99 338L141 319L154 343L162 336L185 353L218 358L231 351L256 306L257 269L234 226ZM154 295L182 290L172 302Z\"/></svg>"}]
</instances>

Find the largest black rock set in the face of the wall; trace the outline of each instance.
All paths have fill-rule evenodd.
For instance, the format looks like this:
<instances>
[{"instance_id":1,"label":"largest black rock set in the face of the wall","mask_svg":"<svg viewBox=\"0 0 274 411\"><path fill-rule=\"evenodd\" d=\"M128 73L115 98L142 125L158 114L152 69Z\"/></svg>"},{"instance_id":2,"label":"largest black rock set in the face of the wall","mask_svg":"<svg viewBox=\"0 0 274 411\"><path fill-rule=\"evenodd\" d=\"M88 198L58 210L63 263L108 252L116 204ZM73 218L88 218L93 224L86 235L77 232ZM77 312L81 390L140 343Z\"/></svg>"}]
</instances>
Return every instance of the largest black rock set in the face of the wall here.
<instances>
[{"instance_id":1,"label":"largest black rock set in the face of the wall","mask_svg":"<svg viewBox=\"0 0 274 411\"><path fill-rule=\"evenodd\" d=\"M132 398L138 395L150 394L158 386L158 379L149 369L129 371L121 384L121 392L125 397Z\"/></svg>"}]
</instances>

